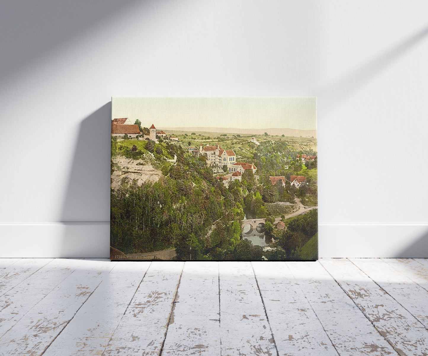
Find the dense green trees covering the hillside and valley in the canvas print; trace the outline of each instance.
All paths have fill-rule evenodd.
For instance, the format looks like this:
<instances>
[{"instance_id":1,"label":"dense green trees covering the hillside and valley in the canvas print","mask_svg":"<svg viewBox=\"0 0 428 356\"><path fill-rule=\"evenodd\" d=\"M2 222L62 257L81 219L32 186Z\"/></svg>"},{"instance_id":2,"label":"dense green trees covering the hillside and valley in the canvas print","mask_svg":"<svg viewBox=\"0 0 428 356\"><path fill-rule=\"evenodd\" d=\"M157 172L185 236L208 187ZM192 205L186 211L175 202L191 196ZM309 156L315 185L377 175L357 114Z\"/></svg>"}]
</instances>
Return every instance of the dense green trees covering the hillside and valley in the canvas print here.
<instances>
[{"instance_id":1,"label":"dense green trees covering the hillside and valley in the canvas print","mask_svg":"<svg viewBox=\"0 0 428 356\"><path fill-rule=\"evenodd\" d=\"M111 147L112 158L154 159L164 176L140 185L124 180L111 190L111 245L125 254L175 248L177 259L182 260L261 260L263 255L281 260L296 257L296 248L307 241L302 237L306 232L297 232L292 237L298 244L292 248L284 235L276 242L276 250L264 253L261 246L242 238L244 215L267 218L265 202L294 203L295 196L309 193L290 187L290 182L285 187L271 185L269 175L289 178L293 168L300 168L298 153L281 141L261 144L253 162L248 162L258 168L259 180L247 170L241 181L236 179L227 187L213 176L204 157L187 153L179 144L146 141L141 148L128 149L112 138ZM167 162L174 156L175 163ZM313 217L311 221L317 226Z\"/></svg>"}]
</instances>

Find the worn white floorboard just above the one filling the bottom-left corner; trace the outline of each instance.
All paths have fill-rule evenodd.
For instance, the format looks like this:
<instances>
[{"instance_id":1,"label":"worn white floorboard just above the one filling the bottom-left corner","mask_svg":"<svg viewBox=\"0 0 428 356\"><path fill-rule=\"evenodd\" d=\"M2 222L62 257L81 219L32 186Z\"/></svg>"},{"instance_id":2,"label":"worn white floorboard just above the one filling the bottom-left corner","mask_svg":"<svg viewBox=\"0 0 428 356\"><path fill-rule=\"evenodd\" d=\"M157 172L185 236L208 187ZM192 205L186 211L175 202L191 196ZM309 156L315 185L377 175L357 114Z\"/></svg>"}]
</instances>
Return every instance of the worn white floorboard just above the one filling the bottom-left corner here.
<instances>
[{"instance_id":1,"label":"worn white floorboard just above the one filling the bottom-left corner","mask_svg":"<svg viewBox=\"0 0 428 356\"><path fill-rule=\"evenodd\" d=\"M0 297L0 337L82 263L56 258L4 293Z\"/></svg>"}]
</instances>

